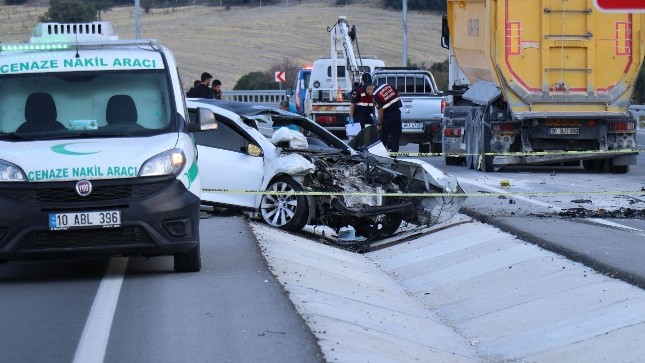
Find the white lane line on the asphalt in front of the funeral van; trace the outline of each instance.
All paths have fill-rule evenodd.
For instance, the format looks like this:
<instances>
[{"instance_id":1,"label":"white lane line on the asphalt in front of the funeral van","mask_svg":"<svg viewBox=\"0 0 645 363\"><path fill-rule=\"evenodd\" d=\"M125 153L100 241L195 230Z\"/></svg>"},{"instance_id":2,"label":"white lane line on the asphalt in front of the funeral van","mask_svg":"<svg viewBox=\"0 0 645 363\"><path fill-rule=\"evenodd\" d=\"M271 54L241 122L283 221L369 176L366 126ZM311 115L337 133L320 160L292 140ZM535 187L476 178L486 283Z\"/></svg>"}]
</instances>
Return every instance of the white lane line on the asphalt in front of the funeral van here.
<instances>
[{"instance_id":1,"label":"white lane line on the asphalt in front of the funeral van","mask_svg":"<svg viewBox=\"0 0 645 363\"><path fill-rule=\"evenodd\" d=\"M90 315L85 322L73 363L103 363L108 347L112 318L119 301L127 257L112 257L94 296Z\"/></svg>"}]
</instances>

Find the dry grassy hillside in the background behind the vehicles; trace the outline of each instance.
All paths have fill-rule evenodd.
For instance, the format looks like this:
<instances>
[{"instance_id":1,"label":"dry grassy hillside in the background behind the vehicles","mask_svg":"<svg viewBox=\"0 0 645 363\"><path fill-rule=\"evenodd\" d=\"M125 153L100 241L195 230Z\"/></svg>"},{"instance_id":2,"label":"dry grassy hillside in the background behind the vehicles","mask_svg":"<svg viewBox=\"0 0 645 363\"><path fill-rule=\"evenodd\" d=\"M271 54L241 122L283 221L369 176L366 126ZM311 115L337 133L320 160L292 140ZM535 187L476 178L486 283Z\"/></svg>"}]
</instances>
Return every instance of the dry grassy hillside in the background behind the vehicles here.
<instances>
[{"instance_id":1,"label":"dry grassy hillside in the background behind the vehicles","mask_svg":"<svg viewBox=\"0 0 645 363\"><path fill-rule=\"evenodd\" d=\"M141 16L141 36L155 37L170 48L184 86L201 72L221 79L230 90L250 71L264 71L285 57L302 65L329 54L328 26L338 16L347 16L358 30L361 54L374 55L388 66L401 65L401 12L384 10L379 1L353 1L336 6L335 0L290 0L262 8L183 6L153 9ZM0 7L1 41L26 41L45 6ZM119 36L134 37L134 8L119 7L103 14L114 22ZM385 34L393 34L386 37ZM439 45L441 15L408 14L408 57L413 63L431 65L446 59Z\"/></svg>"}]
</instances>

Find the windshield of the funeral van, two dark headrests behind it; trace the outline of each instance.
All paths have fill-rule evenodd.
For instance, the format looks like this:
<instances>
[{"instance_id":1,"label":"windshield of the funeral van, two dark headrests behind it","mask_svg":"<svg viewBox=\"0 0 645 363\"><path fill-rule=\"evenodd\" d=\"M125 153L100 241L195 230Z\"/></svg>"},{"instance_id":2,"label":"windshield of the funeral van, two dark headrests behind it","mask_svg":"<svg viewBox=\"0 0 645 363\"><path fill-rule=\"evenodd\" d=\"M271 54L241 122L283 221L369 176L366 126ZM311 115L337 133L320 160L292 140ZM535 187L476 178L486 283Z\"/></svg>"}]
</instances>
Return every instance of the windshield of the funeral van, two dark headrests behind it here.
<instances>
[{"instance_id":1,"label":"windshield of the funeral van, two dark headrests behind it","mask_svg":"<svg viewBox=\"0 0 645 363\"><path fill-rule=\"evenodd\" d=\"M177 129L163 70L0 78L0 140L151 136Z\"/></svg>"}]
</instances>

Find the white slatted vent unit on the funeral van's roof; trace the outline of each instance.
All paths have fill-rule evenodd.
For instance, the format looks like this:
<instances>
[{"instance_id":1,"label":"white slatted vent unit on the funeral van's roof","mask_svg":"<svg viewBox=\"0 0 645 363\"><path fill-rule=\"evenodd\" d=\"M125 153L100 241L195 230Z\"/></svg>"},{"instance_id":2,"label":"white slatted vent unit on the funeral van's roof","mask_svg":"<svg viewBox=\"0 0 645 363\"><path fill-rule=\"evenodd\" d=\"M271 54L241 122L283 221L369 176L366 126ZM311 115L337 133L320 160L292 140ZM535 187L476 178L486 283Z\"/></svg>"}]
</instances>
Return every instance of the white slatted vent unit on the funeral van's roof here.
<instances>
[{"instance_id":1,"label":"white slatted vent unit on the funeral van's roof","mask_svg":"<svg viewBox=\"0 0 645 363\"><path fill-rule=\"evenodd\" d=\"M39 23L29 43L119 40L117 30L110 21L89 23Z\"/></svg>"}]
</instances>

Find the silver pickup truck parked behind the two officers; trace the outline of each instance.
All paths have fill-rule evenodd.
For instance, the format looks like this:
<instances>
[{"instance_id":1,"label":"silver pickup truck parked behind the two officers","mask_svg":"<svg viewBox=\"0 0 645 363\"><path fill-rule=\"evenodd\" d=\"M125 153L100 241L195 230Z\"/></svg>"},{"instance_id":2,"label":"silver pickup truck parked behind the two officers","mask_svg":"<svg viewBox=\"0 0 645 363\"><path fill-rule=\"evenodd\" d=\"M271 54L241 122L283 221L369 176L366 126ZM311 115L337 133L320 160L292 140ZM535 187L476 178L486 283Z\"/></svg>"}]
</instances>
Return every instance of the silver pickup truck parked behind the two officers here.
<instances>
[{"instance_id":1,"label":"silver pickup truck parked behind the two officers","mask_svg":"<svg viewBox=\"0 0 645 363\"><path fill-rule=\"evenodd\" d=\"M377 68L372 81L377 87L389 83L400 93L401 145L419 143L419 152L441 152L441 114L446 97L432 73L419 68Z\"/></svg>"}]
</instances>

